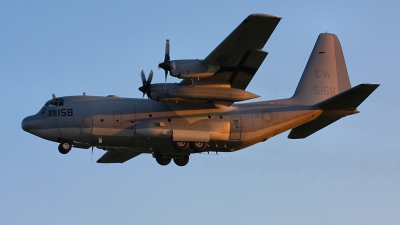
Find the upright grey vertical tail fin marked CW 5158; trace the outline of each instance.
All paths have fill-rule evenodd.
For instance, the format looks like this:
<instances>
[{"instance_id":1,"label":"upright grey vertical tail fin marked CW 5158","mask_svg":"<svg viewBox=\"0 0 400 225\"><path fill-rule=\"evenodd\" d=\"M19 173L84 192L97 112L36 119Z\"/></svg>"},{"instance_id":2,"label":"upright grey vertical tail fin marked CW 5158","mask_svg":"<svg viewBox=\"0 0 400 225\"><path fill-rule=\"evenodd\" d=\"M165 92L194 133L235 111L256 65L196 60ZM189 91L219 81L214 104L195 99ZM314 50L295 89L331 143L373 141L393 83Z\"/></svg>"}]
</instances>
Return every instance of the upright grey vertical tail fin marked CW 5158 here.
<instances>
[{"instance_id":1,"label":"upright grey vertical tail fin marked CW 5158","mask_svg":"<svg viewBox=\"0 0 400 225\"><path fill-rule=\"evenodd\" d=\"M320 34L292 98L302 105L314 105L350 87L339 39Z\"/></svg>"}]
</instances>

